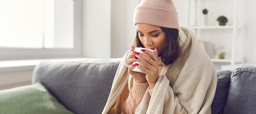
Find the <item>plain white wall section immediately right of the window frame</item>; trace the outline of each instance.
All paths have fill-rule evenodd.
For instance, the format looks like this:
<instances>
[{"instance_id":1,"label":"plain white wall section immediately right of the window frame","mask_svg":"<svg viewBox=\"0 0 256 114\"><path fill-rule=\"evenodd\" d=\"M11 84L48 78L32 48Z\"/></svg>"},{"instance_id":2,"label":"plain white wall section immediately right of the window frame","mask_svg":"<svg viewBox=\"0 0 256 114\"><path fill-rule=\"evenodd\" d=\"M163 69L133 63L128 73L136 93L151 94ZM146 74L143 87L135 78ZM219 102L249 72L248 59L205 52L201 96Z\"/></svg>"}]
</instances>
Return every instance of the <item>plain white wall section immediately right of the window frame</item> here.
<instances>
[{"instance_id":1,"label":"plain white wall section immediately right of the window frame","mask_svg":"<svg viewBox=\"0 0 256 114\"><path fill-rule=\"evenodd\" d=\"M111 57L111 1L82 1L82 56Z\"/></svg>"}]
</instances>

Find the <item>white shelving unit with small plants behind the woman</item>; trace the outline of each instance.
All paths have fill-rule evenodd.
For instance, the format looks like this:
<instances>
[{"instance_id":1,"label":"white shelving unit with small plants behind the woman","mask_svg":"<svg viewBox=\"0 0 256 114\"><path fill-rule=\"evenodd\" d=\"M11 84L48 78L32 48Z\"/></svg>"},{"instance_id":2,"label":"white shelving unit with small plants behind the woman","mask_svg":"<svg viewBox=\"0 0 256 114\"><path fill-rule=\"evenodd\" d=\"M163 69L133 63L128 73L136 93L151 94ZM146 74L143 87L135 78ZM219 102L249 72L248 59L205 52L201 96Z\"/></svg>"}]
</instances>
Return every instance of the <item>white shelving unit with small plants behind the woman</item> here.
<instances>
[{"instance_id":1,"label":"white shelving unit with small plants behind the woman","mask_svg":"<svg viewBox=\"0 0 256 114\"><path fill-rule=\"evenodd\" d=\"M217 69L224 65L217 63L230 63L229 65L235 65L244 62L244 53L240 53L234 50L242 49L244 46L243 42L246 38L246 30L237 30L245 29L245 23L241 22L245 21L245 18L243 18L243 14L246 13L246 7L244 5L246 1L234 0L233 2L233 4L230 4L230 2L225 1L225 5L223 4L221 6L218 6L222 4L223 1L199 0L195 2L195 0L187 0L185 26L189 29L193 29L193 32L195 33L198 40L208 40L212 43L214 58L211 59L214 63L215 68ZM211 5L211 7L213 6L217 8L209 9L209 5ZM230 9L231 12L225 10L227 8L231 8L232 6L233 8ZM210 13L208 13L207 10L211 10ZM209 23L208 26L203 26L203 15L206 14L206 12L207 15L209 15ZM214 23L210 23L210 16L212 15L211 13L214 13L213 15L217 14L214 16ZM229 20L233 20L232 24L226 24L228 22L227 17L229 18ZM230 32L226 31L226 29L228 29L228 31ZM210 34L208 34L208 32L210 32ZM225 40L222 41L222 39ZM221 52L225 52L225 59L219 59L219 54Z\"/></svg>"}]
</instances>

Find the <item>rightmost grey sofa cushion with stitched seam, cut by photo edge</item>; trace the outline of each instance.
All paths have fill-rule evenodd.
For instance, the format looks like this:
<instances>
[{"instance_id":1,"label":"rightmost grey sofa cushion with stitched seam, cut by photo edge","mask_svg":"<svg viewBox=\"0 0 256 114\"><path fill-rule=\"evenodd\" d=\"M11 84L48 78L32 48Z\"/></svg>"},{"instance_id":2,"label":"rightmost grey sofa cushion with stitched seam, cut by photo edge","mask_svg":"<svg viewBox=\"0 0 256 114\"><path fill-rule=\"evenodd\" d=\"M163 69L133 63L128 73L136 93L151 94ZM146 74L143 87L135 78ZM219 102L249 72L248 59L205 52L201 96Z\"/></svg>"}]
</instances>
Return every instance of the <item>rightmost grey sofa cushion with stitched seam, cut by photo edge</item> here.
<instances>
[{"instance_id":1,"label":"rightmost grey sofa cushion with stitched seam, cut by photo edge","mask_svg":"<svg viewBox=\"0 0 256 114\"><path fill-rule=\"evenodd\" d=\"M231 74L224 113L256 113L256 67L242 66Z\"/></svg>"}]
</instances>

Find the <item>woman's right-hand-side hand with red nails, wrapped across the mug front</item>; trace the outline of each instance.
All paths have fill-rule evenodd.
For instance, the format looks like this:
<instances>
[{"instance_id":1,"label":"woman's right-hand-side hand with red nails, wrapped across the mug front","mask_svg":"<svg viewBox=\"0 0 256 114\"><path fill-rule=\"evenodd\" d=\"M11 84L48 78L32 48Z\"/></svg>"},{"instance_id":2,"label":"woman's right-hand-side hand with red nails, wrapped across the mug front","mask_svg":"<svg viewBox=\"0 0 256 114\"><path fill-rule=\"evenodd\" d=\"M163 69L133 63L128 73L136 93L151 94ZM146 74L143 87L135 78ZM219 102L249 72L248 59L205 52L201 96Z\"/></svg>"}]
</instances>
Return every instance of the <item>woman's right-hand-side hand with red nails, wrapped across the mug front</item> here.
<instances>
[{"instance_id":1,"label":"woman's right-hand-side hand with red nails, wrapped across the mug front","mask_svg":"<svg viewBox=\"0 0 256 114\"><path fill-rule=\"evenodd\" d=\"M146 74L146 80L150 85L150 88L153 89L155 86L155 83L157 82L158 79L158 54L157 54L157 49L154 49L154 52L149 51L149 50L141 50L143 53L148 54L150 56L147 56L143 53L138 53L136 52L137 56L145 59L146 61L134 56L135 60L144 65L138 64L138 68Z\"/></svg>"}]
</instances>

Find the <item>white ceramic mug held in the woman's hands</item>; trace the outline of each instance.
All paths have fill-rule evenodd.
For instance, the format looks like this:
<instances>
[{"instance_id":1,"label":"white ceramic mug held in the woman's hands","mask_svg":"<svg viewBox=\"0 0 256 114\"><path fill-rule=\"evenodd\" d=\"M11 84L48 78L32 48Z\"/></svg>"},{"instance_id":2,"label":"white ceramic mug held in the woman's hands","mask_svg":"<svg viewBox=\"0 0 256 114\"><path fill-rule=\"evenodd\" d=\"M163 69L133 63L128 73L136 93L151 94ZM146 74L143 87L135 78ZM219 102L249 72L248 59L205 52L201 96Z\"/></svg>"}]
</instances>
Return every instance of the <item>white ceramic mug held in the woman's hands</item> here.
<instances>
[{"instance_id":1,"label":"white ceramic mug held in the woman's hands","mask_svg":"<svg viewBox=\"0 0 256 114\"><path fill-rule=\"evenodd\" d=\"M143 48L143 47L135 47L135 48L134 48L134 51L139 52L139 53L143 53L143 51L141 51L142 49L144 49L144 50L149 50L149 51L154 52L154 50L147 49L147 48ZM130 66L130 65L128 65L126 62L127 62L127 60L129 59L129 58L127 58L127 57L128 57L128 55L130 55L129 53L131 53L131 52L133 52L133 51L129 50L129 51L127 51L127 52L125 53L125 58L126 58L125 65L126 65L126 67L129 67L129 66ZM143 54L145 54L145 53L143 53ZM145 55L150 56L150 55L148 55L148 54L145 54ZM140 58L140 59L146 61L145 59L139 57L138 55L135 55L135 56L137 56L138 58ZM135 64L135 63L142 65L141 63L139 63L139 62L137 62L137 61L133 62L132 64ZM131 65L132 65L132 64L131 64ZM142 66L145 67L144 65L142 65ZM146 68L146 67L145 67L145 68ZM134 67L134 68L132 69L132 71L144 73L144 72L142 72L138 67Z\"/></svg>"}]
</instances>

